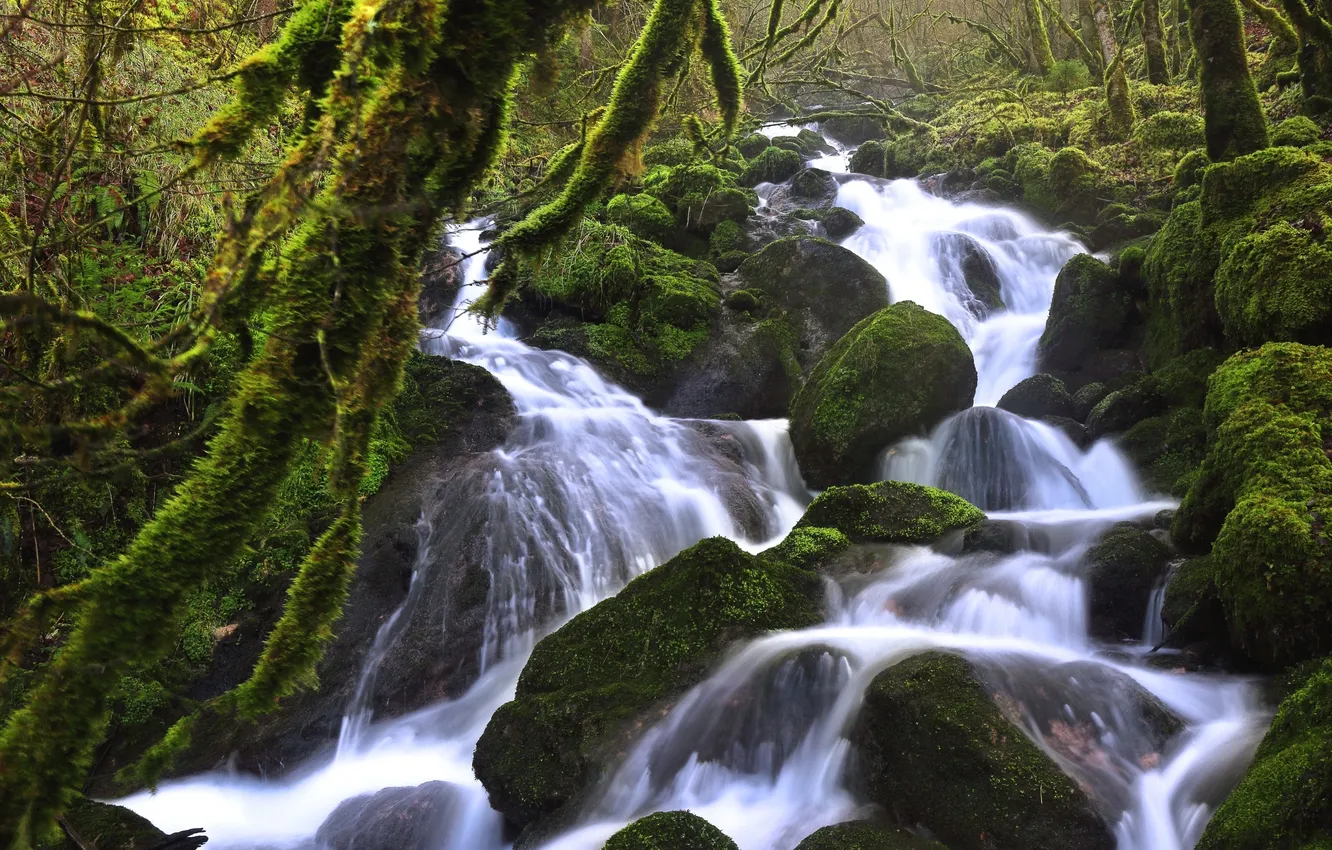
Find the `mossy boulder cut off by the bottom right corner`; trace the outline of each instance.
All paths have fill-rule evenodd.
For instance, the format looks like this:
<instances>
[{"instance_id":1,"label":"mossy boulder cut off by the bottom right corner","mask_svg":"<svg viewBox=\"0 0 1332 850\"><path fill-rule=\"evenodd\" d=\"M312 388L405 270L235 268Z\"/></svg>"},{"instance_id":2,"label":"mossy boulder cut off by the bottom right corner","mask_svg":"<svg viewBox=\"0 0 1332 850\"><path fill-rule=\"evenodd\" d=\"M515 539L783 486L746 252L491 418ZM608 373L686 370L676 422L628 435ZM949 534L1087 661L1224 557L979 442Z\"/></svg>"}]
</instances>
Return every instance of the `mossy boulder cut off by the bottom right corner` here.
<instances>
[{"instance_id":1,"label":"mossy boulder cut off by the bottom right corner","mask_svg":"<svg viewBox=\"0 0 1332 850\"><path fill-rule=\"evenodd\" d=\"M1253 763L1208 821L1197 850L1332 845L1332 659L1276 711Z\"/></svg>"}]
</instances>

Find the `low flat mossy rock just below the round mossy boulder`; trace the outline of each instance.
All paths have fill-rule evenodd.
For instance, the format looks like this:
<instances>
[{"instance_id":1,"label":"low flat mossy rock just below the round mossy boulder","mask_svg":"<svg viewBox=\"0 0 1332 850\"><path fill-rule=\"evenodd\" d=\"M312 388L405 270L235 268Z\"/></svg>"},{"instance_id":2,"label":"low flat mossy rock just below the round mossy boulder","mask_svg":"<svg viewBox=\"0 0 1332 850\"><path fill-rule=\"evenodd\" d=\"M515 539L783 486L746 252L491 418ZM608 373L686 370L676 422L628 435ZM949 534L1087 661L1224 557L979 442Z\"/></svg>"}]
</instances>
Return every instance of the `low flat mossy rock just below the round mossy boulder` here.
<instances>
[{"instance_id":1,"label":"low flat mossy rock just below the round mossy boulder","mask_svg":"<svg viewBox=\"0 0 1332 850\"><path fill-rule=\"evenodd\" d=\"M927 544L984 518L979 508L947 490L879 481L829 488L795 528L836 529L856 544Z\"/></svg>"}]
</instances>

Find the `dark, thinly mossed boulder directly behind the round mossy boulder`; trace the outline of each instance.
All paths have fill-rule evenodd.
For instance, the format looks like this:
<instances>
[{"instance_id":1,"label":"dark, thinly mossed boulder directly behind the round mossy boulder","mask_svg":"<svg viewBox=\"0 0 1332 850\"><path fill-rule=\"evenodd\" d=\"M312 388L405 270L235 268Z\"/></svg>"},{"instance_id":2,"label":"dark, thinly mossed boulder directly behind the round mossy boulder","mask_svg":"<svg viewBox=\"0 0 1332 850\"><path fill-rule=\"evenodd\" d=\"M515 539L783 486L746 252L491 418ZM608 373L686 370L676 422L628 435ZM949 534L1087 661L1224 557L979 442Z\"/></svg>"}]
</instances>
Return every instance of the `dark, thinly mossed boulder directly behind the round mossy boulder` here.
<instances>
[{"instance_id":1,"label":"dark, thinly mossed boulder directly behind the round mossy boulder","mask_svg":"<svg viewBox=\"0 0 1332 850\"><path fill-rule=\"evenodd\" d=\"M888 305L888 282L840 245L813 236L778 240L739 268L743 288L783 310L809 369L858 321Z\"/></svg>"}]
</instances>

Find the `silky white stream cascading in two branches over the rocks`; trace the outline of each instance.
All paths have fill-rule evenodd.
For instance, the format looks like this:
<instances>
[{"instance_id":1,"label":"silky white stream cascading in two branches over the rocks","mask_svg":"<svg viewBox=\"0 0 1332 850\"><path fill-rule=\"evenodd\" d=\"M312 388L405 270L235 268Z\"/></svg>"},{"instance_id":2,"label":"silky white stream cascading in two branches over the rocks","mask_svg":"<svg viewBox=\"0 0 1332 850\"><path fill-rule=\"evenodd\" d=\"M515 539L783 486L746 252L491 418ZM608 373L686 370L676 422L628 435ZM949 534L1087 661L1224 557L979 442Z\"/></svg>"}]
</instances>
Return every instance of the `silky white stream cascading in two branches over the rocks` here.
<instances>
[{"instance_id":1,"label":"silky white stream cascading in two branches over the rocks","mask_svg":"<svg viewBox=\"0 0 1332 850\"><path fill-rule=\"evenodd\" d=\"M846 156L815 164L844 171ZM743 850L791 850L817 827L863 814L847 787L846 735L864 687L931 649L960 653L987 683L1030 697L1024 730L1092 790L1120 850L1191 847L1269 715L1251 682L1146 663L1160 638L1160 590L1142 645L1090 634L1082 556L1115 522L1147 521L1172 504L1143 493L1111 442L1083 450L1055 428L991 406L1035 372L1055 276L1082 246L1014 211L952 203L911 181L843 179L838 204L867 222L843 244L883 272L894 301L914 300L956 325L979 373L978 406L884 446L882 477L954 490L1011 521L1022 545L1010 556L875 548L864 556L876 565L868 577L829 582L823 625L735 647L546 850L595 850L625 823L673 809L713 821ZM478 249L482 226L457 230L454 244ZM988 258L1007 309L976 309L959 245ZM393 650L432 552L450 545L422 517L413 592L368 654L337 753L281 781L209 774L124 801L163 829L204 826L220 847L314 847L338 802L441 779L457 787L458 803L436 846L500 850L500 817L472 775L472 751L535 639L703 537L757 552L799 518L810 494L785 421L698 428L663 418L575 357L529 348L503 322L484 332L464 309L478 294L484 257L466 260L448 326L422 336L426 350L490 370L519 413L485 472L492 589L480 679L409 717L369 715L377 661ZM738 473L710 449L717 433L741 446ZM1184 721L1164 747L1140 727L1128 679Z\"/></svg>"}]
</instances>

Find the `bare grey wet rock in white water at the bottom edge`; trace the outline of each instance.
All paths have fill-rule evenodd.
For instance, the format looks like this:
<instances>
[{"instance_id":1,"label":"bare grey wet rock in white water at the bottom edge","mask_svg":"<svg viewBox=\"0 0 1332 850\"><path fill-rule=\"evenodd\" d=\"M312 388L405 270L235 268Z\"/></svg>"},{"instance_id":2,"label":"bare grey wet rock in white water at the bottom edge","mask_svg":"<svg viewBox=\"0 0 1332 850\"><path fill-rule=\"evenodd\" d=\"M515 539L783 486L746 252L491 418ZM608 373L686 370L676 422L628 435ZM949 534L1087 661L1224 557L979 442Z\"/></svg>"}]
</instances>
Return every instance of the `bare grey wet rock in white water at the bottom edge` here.
<instances>
[{"instance_id":1,"label":"bare grey wet rock in white water at the bottom edge","mask_svg":"<svg viewBox=\"0 0 1332 850\"><path fill-rule=\"evenodd\" d=\"M388 787L340 803L314 841L328 850L432 850L457 807L448 782Z\"/></svg>"}]
</instances>

